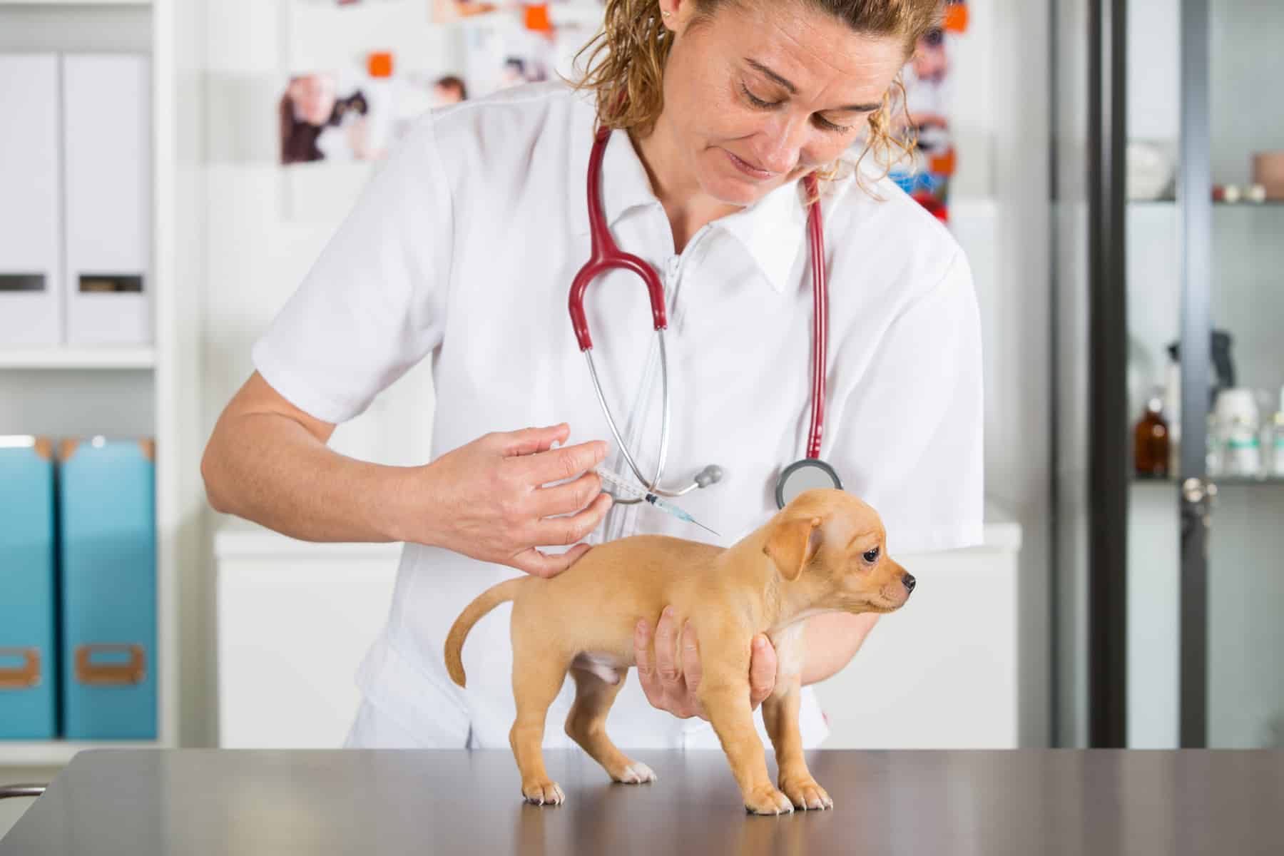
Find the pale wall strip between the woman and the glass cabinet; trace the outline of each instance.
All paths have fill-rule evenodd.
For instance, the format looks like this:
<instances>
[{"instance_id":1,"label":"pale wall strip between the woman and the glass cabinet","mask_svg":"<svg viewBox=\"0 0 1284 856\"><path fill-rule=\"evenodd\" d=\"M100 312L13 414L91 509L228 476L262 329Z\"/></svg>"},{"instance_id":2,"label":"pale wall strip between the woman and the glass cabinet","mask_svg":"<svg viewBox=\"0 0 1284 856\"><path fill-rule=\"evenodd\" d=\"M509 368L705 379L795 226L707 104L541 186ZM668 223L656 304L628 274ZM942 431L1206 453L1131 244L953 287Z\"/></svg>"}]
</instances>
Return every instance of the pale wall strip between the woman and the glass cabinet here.
<instances>
[{"instance_id":1,"label":"pale wall strip between the woman and the glass cabinet","mask_svg":"<svg viewBox=\"0 0 1284 856\"><path fill-rule=\"evenodd\" d=\"M959 181L953 227L972 262L985 349L986 494L1017 513L1021 740L1046 746L1050 294L1045 3L969 0L959 40ZM980 204L977 204L980 203ZM984 621L984 616L977 616Z\"/></svg>"}]
</instances>

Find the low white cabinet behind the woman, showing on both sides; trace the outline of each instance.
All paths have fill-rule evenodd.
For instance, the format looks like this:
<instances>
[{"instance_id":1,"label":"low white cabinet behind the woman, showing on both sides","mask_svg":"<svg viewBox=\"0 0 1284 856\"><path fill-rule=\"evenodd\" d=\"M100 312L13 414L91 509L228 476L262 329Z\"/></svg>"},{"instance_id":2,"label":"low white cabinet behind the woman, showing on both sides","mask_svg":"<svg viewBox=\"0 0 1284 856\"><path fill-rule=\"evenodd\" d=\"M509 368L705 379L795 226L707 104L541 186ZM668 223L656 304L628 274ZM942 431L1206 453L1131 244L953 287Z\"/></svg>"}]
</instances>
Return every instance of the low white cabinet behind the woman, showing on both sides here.
<instances>
[{"instance_id":1,"label":"low white cabinet behind the woman, showing on both sides","mask_svg":"<svg viewBox=\"0 0 1284 856\"><path fill-rule=\"evenodd\" d=\"M1019 527L991 513L985 547L896 557L918 579L909 606L817 685L827 747L1017 746L1019 545ZM399 545L308 544L238 524L214 549L218 744L342 746Z\"/></svg>"}]
</instances>

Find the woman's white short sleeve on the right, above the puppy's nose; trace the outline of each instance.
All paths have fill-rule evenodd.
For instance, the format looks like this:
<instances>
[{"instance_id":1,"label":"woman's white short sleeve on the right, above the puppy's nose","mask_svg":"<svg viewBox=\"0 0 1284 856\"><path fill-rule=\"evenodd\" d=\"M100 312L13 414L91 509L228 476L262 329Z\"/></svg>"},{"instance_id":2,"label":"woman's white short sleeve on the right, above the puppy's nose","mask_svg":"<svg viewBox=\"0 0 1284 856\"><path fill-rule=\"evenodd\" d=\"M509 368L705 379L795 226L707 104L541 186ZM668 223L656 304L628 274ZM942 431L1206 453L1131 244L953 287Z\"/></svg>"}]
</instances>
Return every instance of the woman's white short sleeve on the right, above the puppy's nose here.
<instances>
[{"instance_id":1,"label":"woman's white short sleeve on the right, above the puppy's nose","mask_svg":"<svg viewBox=\"0 0 1284 856\"><path fill-rule=\"evenodd\" d=\"M831 454L844 486L880 513L887 548L982 542L981 321L960 250L887 327L847 391Z\"/></svg>"}]
</instances>

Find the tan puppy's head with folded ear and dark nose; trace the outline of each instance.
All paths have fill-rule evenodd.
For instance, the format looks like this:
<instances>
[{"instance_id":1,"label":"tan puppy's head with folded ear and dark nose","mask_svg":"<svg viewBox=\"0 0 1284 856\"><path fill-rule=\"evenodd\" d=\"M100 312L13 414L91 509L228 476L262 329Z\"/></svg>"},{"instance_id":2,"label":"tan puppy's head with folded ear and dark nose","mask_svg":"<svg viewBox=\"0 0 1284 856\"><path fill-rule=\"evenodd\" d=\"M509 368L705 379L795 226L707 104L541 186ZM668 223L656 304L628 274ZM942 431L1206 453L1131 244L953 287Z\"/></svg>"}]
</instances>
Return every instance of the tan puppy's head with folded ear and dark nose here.
<instances>
[{"instance_id":1,"label":"tan puppy's head with folded ear and dark nose","mask_svg":"<svg viewBox=\"0 0 1284 856\"><path fill-rule=\"evenodd\" d=\"M809 606L892 612L914 590L914 578L887 556L878 513L844 490L806 490L767 526L763 553Z\"/></svg>"}]
</instances>

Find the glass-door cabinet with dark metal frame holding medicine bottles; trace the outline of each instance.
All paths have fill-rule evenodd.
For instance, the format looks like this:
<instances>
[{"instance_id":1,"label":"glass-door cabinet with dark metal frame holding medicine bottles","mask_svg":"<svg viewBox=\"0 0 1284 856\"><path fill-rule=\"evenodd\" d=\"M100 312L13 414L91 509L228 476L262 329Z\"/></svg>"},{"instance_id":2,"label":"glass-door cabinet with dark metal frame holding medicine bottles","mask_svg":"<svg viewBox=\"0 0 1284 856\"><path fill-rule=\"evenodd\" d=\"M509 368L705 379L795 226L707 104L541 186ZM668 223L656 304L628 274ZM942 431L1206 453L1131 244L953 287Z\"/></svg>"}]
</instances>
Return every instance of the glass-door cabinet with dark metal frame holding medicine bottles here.
<instances>
[{"instance_id":1,"label":"glass-door cabinet with dark metal frame holding medicine bottles","mask_svg":"<svg viewBox=\"0 0 1284 856\"><path fill-rule=\"evenodd\" d=\"M1068 141L1054 182L1066 732L1098 747L1279 747L1284 479L1210 474L1206 440L1210 382L1228 373L1215 331L1234 364L1219 384L1265 393L1260 418L1284 382L1284 204L1213 200L1253 181L1257 153L1284 149L1284 6L1088 5L1061 12L1054 80L1054 139ZM1172 153L1175 199L1126 199L1131 144ZM1134 477L1132 427L1170 377L1180 459L1170 479Z\"/></svg>"}]
</instances>

